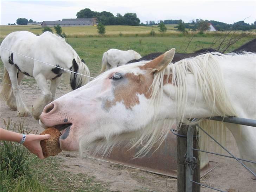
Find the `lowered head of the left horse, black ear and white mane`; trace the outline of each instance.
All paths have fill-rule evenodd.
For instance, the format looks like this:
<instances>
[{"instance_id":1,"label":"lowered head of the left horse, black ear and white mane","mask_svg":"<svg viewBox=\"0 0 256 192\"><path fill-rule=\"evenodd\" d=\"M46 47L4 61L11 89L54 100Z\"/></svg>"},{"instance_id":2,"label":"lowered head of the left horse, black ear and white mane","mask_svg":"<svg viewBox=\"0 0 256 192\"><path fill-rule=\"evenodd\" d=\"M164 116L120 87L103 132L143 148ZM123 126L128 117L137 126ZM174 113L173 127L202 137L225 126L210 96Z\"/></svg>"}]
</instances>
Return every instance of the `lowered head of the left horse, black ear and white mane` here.
<instances>
[{"instance_id":1,"label":"lowered head of the left horse, black ear and white mane","mask_svg":"<svg viewBox=\"0 0 256 192\"><path fill-rule=\"evenodd\" d=\"M90 81L90 71L85 63L80 62L77 64L76 60L73 59L72 71L76 72L71 72L70 75L70 86L73 90L82 87Z\"/></svg>"}]
</instances>

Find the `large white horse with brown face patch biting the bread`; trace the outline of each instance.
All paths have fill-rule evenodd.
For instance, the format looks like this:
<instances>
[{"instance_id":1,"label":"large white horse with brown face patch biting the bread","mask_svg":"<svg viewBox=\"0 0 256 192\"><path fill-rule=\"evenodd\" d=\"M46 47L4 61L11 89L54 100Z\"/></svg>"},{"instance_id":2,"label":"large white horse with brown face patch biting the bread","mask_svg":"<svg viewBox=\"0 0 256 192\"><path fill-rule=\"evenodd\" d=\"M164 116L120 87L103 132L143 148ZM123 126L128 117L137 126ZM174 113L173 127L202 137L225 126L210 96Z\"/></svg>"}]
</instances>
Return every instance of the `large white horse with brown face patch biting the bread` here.
<instances>
[{"instance_id":1,"label":"large white horse with brown face patch biting the bread","mask_svg":"<svg viewBox=\"0 0 256 192\"><path fill-rule=\"evenodd\" d=\"M106 71L48 104L40 124L65 128L60 137L63 150L97 146L96 152L104 153L134 138L133 146L142 143L139 154L145 154L155 142L164 141L176 121L189 124L188 119L198 118L196 123L207 124L204 129L222 141L227 127L241 158L256 161L254 127L205 120L211 116L256 118L256 54L205 53L170 64L173 57L174 49L150 62ZM205 137L200 135L201 143ZM244 164L256 172L255 164Z\"/></svg>"}]
</instances>

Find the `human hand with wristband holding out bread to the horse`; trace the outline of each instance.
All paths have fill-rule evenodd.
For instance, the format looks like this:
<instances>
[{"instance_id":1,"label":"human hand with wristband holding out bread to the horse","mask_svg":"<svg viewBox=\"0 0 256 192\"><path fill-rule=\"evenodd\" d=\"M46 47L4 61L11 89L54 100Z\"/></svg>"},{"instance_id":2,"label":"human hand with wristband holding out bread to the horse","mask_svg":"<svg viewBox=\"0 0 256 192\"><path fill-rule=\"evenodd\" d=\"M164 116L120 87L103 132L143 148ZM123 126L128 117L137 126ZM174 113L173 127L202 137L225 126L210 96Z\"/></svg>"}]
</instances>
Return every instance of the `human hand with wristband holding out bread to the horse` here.
<instances>
[{"instance_id":1,"label":"human hand with wristband holding out bread to the horse","mask_svg":"<svg viewBox=\"0 0 256 192\"><path fill-rule=\"evenodd\" d=\"M23 145L33 154L37 155L40 159L44 159L43 151L40 145L40 141L49 139L51 135L26 135L26 140Z\"/></svg>"}]
</instances>

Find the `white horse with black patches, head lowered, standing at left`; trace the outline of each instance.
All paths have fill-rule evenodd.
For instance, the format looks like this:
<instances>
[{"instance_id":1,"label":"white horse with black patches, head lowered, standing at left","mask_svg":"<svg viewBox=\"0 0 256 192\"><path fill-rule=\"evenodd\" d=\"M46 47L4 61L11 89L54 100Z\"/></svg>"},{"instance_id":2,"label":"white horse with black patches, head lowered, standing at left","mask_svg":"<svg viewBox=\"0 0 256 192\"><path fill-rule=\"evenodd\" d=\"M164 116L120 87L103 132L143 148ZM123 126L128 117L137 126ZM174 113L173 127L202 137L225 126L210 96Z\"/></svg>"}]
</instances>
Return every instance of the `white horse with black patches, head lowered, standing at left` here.
<instances>
[{"instance_id":1,"label":"white horse with black patches, head lowered, standing at left","mask_svg":"<svg viewBox=\"0 0 256 192\"><path fill-rule=\"evenodd\" d=\"M70 85L73 90L89 82L89 69L76 51L65 39L50 32L44 32L40 36L28 31L10 33L2 41L0 55L5 67L1 98L12 110L18 110L20 116L30 114L19 90L25 75L36 79L43 94L33 104L33 116L36 119L45 105L55 99L56 89L64 72L73 71L86 75L71 73ZM47 85L48 79L51 80L50 88Z\"/></svg>"}]
</instances>

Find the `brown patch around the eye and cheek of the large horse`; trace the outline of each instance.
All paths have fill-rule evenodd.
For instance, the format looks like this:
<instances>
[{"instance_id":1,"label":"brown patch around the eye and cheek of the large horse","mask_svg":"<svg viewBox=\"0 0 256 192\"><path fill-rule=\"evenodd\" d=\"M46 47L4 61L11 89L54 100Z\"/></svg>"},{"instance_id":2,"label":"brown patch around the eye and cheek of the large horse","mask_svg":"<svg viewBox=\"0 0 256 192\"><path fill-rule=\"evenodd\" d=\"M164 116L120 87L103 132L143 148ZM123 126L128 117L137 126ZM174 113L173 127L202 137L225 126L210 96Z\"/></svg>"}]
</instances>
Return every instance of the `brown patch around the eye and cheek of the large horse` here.
<instances>
[{"instance_id":1,"label":"brown patch around the eye and cheek of the large horse","mask_svg":"<svg viewBox=\"0 0 256 192\"><path fill-rule=\"evenodd\" d=\"M120 82L118 82L120 81ZM146 98L151 97L151 84L153 75L151 73L145 75L134 75L127 73L123 79L113 82L114 99L107 99L104 103L104 109L108 110L117 102L122 102L126 109L132 109L133 106L140 104L139 95Z\"/></svg>"}]
</instances>

